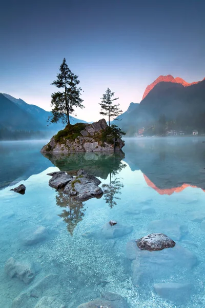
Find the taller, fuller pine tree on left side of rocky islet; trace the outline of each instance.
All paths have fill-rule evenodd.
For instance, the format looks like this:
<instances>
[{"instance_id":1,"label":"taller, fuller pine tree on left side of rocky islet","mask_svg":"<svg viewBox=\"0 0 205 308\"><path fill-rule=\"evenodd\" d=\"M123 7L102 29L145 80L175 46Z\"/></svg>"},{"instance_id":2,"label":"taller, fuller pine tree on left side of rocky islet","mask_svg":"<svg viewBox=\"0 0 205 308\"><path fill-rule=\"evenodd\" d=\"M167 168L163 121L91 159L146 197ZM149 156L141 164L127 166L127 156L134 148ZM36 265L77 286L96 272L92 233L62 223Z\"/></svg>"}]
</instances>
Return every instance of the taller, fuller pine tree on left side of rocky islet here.
<instances>
[{"instance_id":1,"label":"taller, fuller pine tree on left side of rocky islet","mask_svg":"<svg viewBox=\"0 0 205 308\"><path fill-rule=\"evenodd\" d=\"M49 117L49 121L57 123L61 120L63 124L70 124L69 115L74 112L74 107L84 108L83 100L80 98L81 88L77 87L78 76L71 72L65 58L59 71L57 79L51 85L59 89L62 88L63 91L51 95L52 115Z\"/></svg>"}]
</instances>

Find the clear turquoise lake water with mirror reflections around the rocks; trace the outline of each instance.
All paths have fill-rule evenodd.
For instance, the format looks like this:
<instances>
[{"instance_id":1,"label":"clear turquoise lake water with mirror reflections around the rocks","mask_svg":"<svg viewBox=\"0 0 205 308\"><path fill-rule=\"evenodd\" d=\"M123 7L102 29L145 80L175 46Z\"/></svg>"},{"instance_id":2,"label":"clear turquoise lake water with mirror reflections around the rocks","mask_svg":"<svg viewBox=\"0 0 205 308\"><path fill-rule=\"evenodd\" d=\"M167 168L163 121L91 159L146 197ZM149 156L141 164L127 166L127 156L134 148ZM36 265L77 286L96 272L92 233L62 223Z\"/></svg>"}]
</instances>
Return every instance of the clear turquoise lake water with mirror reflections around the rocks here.
<instances>
[{"instance_id":1,"label":"clear turquoise lake water with mirror reflections around the rocks","mask_svg":"<svg viewBox=\"0 0 205 308\"><path fill-rule=\"evenodd\" d=\"M1 143L0 306L10 308L21 292L28 292L46 275L57 274L59 281L53 278L55 292L49 286L53 281L49 281L42 288L42 296L54 295L68 308L107 291L123 296L130 308L204 307L202 141L203 138L127 139L125 157L79 153L48 158L39 153L45 141ZM73 202L49 187L48 172L60 168L75 174L82 167L99 177L101 186L106 185L101 199ZM9 190L18 182L26 186L23 196ZM110 185L114 196L110 196ZM65 207L68 203L70 207ZM111 219L133 226L133 232L105 239L100 229ZM155 220L160 220L157 226L152 223ZM47 240L23 245L19 233L36 225L47 228ZM175 252L178 246L186 250L180 248L171 263L166 263L169 256L163 259L162 254L153 264L140 257L136 269L142 276L133 276L131 260L126 257L127 242L156 232L154 228L157 232L167 228L167 235L176 241L175 248L162 252ZM35 264L36 276L29 285L5 274L4 266L10 257ZM159 297L153 285L162 282L191 282L190 299L180 304ZM33 308L38 300L29 295L15 307Z\"/></svg>"}]
</instances>

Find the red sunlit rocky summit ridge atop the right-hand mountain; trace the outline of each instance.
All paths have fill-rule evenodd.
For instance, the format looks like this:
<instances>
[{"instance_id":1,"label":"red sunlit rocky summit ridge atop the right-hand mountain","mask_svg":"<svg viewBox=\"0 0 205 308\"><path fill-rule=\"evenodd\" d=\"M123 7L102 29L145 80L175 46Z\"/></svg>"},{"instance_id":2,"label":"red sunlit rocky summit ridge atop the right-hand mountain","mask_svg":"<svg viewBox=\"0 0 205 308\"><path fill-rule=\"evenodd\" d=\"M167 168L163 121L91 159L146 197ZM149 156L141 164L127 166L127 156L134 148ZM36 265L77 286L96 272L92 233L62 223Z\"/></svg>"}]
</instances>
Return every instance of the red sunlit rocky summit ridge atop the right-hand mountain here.
<instances>
[{"instance_id":1,"label":"red sunlit rocky summit ridge atop the right-hand mountain","mask_svg":"<svg viewBox=\"0 0 205 308\"><path fill-rule=\"evenodd\" d=\"M189 87L191 85L197 84L200 81L195 81L192 83L188 83L185 80L183 80L180 77L176 77L174 78L172 75L160 75L153 83L151 83L149 86L147 86L147 88L145 89L145 92L143 94L142 100L144 100L147 96L147 94L160 82L173 82L173 83L179 83L184 87Z\"/></svg>"}]
</instances>

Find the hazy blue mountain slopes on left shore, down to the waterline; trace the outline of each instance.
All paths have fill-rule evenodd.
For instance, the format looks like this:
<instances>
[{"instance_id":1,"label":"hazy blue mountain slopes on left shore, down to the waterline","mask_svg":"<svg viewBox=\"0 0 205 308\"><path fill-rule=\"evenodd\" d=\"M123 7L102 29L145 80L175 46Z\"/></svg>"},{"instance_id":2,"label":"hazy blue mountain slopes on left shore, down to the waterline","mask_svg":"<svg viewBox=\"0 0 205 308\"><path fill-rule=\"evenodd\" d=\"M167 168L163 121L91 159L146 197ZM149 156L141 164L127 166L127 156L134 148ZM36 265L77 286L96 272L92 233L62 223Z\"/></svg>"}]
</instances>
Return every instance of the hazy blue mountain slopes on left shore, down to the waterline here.
<instances>
[{"instance_id":1,"label":"hazy blue mountain slopes on left shore, down to the waterline","mask_svg":"<svg viewBox=\"0 0 205 308\"><path fill-rule=\"evenodd\" d=\"M0 93L0 140L50 138L65 125L47 122L51 112ZM86 121L70 117L71 124Z\"/></svg>"}]
</instances>

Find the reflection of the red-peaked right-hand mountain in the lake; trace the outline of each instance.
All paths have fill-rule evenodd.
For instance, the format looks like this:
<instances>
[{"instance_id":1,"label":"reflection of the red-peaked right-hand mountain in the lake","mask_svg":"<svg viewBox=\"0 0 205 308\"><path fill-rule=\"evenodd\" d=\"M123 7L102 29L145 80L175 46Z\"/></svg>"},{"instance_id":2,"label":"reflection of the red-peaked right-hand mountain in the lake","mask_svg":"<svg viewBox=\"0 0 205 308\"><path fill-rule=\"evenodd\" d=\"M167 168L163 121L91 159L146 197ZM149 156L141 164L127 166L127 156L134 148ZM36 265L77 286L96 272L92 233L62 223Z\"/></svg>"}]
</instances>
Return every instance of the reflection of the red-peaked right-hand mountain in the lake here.
<instances>
[{"instance_id":1,"label":"reflection of the red-peaked right-hand mountain in the lake","mask_svg":"<svg viewBox=\"0 0 205 308\"><path fill-rule=\"evenodd\" d=\"M148 186L160 195L187 187L205 191L203 138L132 138L126 140L126 159L132 171L141 170Z\"/></svg>"}]
</instances>

